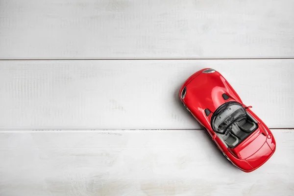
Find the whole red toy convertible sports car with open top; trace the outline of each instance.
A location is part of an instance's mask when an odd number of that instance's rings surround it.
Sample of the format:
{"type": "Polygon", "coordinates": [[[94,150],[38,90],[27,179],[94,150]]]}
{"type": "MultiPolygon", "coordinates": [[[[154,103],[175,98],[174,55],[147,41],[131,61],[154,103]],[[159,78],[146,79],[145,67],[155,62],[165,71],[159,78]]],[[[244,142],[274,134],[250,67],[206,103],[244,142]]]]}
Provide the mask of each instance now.
{"type": "Polygon", "coordinates": [[[223,155],[237,168],[252,172],[276,149],[270,129],[217,71],[206,68],[191,75],[179,97],[223,155]]]}

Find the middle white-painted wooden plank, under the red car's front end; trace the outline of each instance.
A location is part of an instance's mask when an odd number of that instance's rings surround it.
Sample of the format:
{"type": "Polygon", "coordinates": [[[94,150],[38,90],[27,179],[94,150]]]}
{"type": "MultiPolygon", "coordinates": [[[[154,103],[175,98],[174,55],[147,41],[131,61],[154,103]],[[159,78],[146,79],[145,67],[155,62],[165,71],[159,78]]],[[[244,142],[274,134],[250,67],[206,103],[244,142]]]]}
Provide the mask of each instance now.
{"type": "Polygon", "coordinates": [[[200,128],[178,90],[211,67],[270,128],[294,127],[294,59],[0,61],[0,129],[200,128]]]}

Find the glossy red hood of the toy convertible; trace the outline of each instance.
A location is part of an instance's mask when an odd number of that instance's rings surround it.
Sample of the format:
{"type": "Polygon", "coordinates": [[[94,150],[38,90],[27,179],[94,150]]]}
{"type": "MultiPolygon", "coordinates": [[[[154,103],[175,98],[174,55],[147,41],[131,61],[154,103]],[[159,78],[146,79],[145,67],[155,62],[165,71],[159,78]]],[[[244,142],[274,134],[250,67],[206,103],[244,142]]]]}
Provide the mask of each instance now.
{"type": "Polygon", "coordinates": [[[219,72],[200,73],[187,85],[185,102],[193,103],[189,105],[193,105],[195,110],[207,108],[214,112],[227,101],[242,103],[238,94],[219,72]],[[223,94],[229,99],[225,100],[223,94]]]}

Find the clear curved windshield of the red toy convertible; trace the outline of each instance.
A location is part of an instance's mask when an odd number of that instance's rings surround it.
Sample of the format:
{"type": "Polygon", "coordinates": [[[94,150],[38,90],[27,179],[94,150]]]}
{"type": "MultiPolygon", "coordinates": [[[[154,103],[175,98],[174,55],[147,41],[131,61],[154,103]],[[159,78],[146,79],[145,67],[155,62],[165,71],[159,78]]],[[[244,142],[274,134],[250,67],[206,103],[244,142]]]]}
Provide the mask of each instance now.
{"type": "Polygon", "coordinates": [[[216,110],[212,120],[213,129],[217,133],[224,134],[230,124],[245,115],[245,109],[239,103],[227,102],[216,110]]]}

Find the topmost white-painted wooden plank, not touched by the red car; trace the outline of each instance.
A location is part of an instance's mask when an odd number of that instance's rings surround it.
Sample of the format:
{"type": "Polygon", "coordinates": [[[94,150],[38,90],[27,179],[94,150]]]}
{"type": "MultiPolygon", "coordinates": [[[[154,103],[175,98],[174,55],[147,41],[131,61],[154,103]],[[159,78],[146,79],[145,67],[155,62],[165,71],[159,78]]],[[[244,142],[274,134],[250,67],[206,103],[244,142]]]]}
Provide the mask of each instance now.
{"type": "Polygon", "coordinates": [[[293,0],[1,0],[0,59],[294,57],[293,0]]]}

